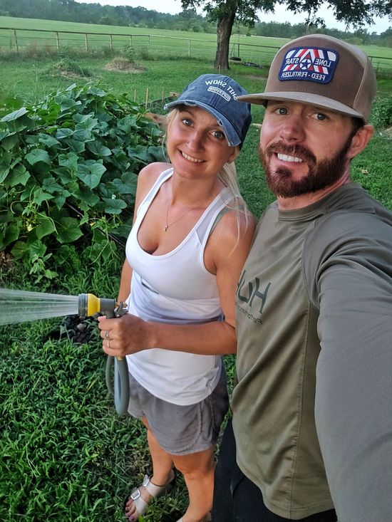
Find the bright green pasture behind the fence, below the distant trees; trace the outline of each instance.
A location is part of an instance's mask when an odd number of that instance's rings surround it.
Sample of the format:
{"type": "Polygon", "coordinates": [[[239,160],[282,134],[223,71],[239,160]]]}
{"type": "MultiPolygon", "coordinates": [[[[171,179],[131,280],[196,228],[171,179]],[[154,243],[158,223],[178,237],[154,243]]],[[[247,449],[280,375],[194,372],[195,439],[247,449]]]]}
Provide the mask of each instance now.
{"type": "MultiPolygon", "coordinates": [[[[76,24],[73,22],[0,16],[0,49],[3,52],[9,52],[10,50],[16,52],[16,38],[14,31],[12,31],[13,29],[17,29],[16,36],[21,52],[24,50],[28,54],[33,53],[37,47],[45,48],[50,53],[56,53],[57,46],[60,49],[73,47],[80,50],[85,50],[86,45],[90,50],[97,48],[122,50],[126,46],[133,46],[138,51],[153,53],[155,56],[172,54],[213,59],[216,48],[216,35],[210,33],[76,24]],[[31,29],[34,31],[31,32],[31,29]],[[41,31],[51,32],[44,33],[41,31]],[[80,34],[67,33],[66,31],[76,31],[80,34]],[[86,33],[88,37],[86,37],[86,33]],[[105,36],[102,33],[105,33],[105,36]],[[113,35],[113,37],[108,36],[109,34],[113,35]]],[[[282,46],[282,43],[285,41],[287,40],[284,38],[233,34],[230,41],[230,54],[242,58],[243,61],[267,65],[272,60],[275,50],[282,46]]],[[[361,47],[369,56],[374,57],[372,58],[373,65],[376,68],[392,70],[391,48],[380,46],[361,47]]]]}

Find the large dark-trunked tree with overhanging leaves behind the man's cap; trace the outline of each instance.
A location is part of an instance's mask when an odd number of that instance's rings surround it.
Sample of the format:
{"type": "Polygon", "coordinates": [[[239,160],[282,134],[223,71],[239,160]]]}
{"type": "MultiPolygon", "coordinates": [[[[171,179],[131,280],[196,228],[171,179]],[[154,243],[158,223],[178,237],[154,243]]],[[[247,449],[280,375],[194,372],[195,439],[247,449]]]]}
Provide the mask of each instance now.
{"type": "MultiPolygon", "coordinates": [[[[203,7],[211,21],[217,22],[217,52],[214,66],[229,69],[229,43],[234,21],[253,27],[259,20],[258,11],[274,11],[276,3],[286,4],[293,13],[304,13],[306,26],[323,26],[324,21],[316,14],[324,0],[181,0],[182,9],[203,7]]],[[[390,0],[327,0],[337,21],[345,21],[347,26],[361,28],[371,24],[374,16],[388,16],[392,19],[390,0]]]]}

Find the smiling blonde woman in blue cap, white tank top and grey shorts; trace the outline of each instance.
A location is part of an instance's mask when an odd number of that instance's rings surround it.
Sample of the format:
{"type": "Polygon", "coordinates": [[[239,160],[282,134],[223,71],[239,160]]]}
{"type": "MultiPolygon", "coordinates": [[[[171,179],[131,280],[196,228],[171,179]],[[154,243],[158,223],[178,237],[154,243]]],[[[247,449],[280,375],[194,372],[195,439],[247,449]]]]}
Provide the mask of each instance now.
{"type": "Polygon", "coordinates": [[[189,494],[179,522],[209,519],[228,407],[221,355],[236,351],[234,293],[254,231],[233,163],[251,120],[235,99],[244,93],[232,78],[207,74],[165,106],[173,108],[170,163],[138,177],[118,296],[129,313],[99,318],[105,353],[127,355],[128,412],[145,424],[153,461],[126,503],[130,522],[169,489],[173,467],[189,494]]]}

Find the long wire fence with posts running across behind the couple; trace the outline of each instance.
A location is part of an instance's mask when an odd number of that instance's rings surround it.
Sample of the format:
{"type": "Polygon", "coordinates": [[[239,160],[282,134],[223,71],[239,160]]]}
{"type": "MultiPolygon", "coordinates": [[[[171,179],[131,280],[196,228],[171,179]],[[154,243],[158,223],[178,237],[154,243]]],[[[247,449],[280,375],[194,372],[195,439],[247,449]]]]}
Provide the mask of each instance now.
{"type": "MultiPolygon", "coordinates": [[[[126,33],[83,33],[76,31],[51,31],[43,29],[19,29],[0,27],[0,51],[16,55],[31,55],[41,51],[60,54],[73,51],[135,52],[138,56],[179,56],[214,60],[216,41],[197,38],[180,38],[151,34],[126,33]]],[[[264,66],[271,63],[279,46],[262,46],[252,43],[230,43],[232,61],[242,61],[249,66],[264,66]]],[[[376,72],[392,72],[392,58],[371,56],[376,72]]]]}

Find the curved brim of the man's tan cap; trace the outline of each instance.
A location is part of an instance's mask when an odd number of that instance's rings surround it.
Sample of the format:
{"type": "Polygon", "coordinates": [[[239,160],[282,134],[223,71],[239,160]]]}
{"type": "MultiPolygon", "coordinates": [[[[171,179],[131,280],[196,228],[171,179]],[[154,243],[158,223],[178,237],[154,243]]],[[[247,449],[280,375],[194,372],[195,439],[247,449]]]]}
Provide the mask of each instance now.
{"type": "Polygon", "coordinates": [[[237,96],[237,101],[239,102],[256,103],[257,105],[266,105],[268,100],[287,100],[292,102],[306,103],[322,109],[333,110],[336,113],[354,116],[354,118],[361,118],[361,120],[365,121],[361,113],[349,107],[348,105],[344,105],[344,103],[339,103],[336,100],[331,100],[331,98],[325,98],[324,96],[317,94],[282,91],[237,96]]]}

